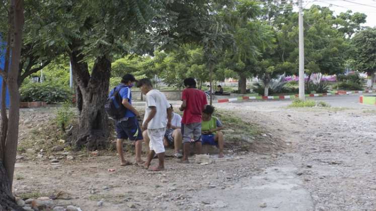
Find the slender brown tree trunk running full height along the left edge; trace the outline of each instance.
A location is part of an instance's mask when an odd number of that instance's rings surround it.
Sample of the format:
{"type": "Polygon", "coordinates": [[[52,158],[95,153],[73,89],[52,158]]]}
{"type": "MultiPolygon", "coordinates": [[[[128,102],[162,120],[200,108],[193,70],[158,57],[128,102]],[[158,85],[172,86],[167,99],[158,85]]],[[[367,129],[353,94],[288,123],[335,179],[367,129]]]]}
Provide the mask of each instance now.
{"type": "MultiPolygon", "coordinates": [[[[23,210],[12,195],[13,175],[16,163],[18,130],[20,119],[20,92],[18,87],[19,64],[22,46],[22,31],[24,27],[24,1],[12,0],[8,13],[9,37],[7,40],[6,68],[4,82],[8,85],[10,95],[10,109],[8,127],[2,126],[2,135],[6,137],[0,147],[0,210],[23,210]],[[10,67],[8,66],[10,62],[10,67]],[[7,69],[10,68],[8,71],[7,69]],[[6,130],[6,131],[5,131],[6,130]]],[[[2,88],[5,88],[3,86],[2,88]]],[[[4,90],[4,89],[3,89],[4,90]]],[[[4,96],[4,91],[2,94],[4,96]]],[[[6,116],[3,111],[2,115],[6,116]]],[[[2,122],[3,124],[5,122],[2,122]]]]}

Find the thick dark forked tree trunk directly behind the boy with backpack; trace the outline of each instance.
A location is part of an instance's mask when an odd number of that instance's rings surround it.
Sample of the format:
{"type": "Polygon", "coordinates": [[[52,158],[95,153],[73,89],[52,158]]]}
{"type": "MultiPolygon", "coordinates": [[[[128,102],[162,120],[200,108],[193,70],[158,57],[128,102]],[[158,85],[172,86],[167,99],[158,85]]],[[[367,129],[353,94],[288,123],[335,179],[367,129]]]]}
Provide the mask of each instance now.
{"type": "Polygon", "coordinates": [[[78,86],[79,109],[79,134],[73,145],[77,149],[84,146],[90,150],[104,149],[110,134],[104,103],[108,96],[111,60],[106,55],[97,58],[90,75],[88,65],[82,59],[80,52],[72,52],[70,60],[72,74],[78,86]]]}

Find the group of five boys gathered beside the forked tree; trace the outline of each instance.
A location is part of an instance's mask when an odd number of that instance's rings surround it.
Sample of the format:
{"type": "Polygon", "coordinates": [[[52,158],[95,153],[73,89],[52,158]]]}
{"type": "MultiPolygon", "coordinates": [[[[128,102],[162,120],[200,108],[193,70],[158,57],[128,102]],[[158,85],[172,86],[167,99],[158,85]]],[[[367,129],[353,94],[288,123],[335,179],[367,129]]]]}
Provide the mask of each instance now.
{"type": "Polygon", "coordinates": [[[183,118],[173,113],[172,104],[166,96],[153,88],[151,80],[144,78],[137,81],[137,87],[145,94],[145,115],[142,126],[139,127],[138,111],[132,106],[131,87],[136,79],[131,74],[122,77],[121,84],[115,87],[110,96],[118,91],[122,105],[127,109],[124,118],[116,120],[116,148],[120,156],[120,165],[130,165],[124,159],[123,140],[135,141],[135,164],[149,169],[152,159],[157,156],[159,165],[149,170],[164,170],[165,147],[174,145],[174,156],[181,158],[180,163],[189,163],[190,144],[193,142],[196,152],[201,153],[202,144],[217,145],[219,157],[223,157],[223,134],[221,122],[212,117],[214,108],[207,104],[205,93],[196,89],[194,78],[184,80],[185,89],[182,92],[182,104],[179,108],[183,118]],[[141,159],[142,141],[149,146],[147,160],[141,159]],[[180,153],[181,144],[183,154],[180,153]]]}

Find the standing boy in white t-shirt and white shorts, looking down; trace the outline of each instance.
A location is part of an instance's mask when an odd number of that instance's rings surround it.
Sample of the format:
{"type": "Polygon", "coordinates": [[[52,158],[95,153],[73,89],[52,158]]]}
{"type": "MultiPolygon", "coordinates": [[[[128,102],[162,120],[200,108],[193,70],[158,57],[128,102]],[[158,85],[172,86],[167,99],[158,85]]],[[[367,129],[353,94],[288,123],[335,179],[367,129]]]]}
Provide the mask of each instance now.
{"type": "Polygon", "coordinates": [[[146,131],[150,139],[149,153],[145,168],[148,169],[155,154],[158,156],[159,165],[153,167],[153,171],[161,171],[165,169],[165,147],[163,145],[163,137],[165,135],[166,127],[171,128],[172,109],[167,101],[166,96],[153,89],[152,82],[143,78],[137,82],[137,87],[146,95],[145,116],[141,130],[146,131]]]}

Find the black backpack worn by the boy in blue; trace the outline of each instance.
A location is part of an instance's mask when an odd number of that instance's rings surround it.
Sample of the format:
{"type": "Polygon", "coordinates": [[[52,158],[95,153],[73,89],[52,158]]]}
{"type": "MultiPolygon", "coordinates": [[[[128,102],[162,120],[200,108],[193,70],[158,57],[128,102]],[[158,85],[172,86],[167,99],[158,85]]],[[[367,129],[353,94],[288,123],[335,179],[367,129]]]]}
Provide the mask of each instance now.
{"type": "Polygon", "coordinates": [[[119,92],[122,88],[126,86],[119,85],[113,89],[113,93],[109,96],[105,103],[105,111],[110,119],[120,120],[121,118],[125,117],[125,113],[127,109],[122,104],[122,97],[120,96],[119,92]],[[117,90],[116,88],[119,87],[117,90]]]}

